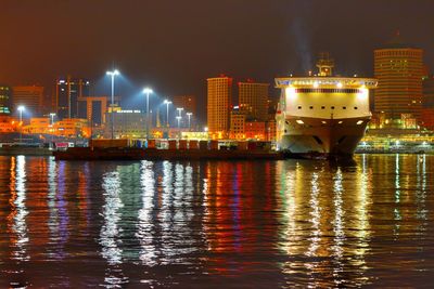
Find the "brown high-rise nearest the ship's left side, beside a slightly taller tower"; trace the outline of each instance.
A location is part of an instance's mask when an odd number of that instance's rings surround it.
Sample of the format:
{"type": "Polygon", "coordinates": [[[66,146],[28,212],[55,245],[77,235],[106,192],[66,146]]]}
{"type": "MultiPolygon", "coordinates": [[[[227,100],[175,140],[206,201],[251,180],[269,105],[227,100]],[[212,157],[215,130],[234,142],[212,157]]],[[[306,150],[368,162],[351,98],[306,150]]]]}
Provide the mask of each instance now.
{"type": "Polygon", "coordinates": [[[240,113],[245,114],[247,118],[267,120],[269,86],[269,83],[257,83],[250,79],[246,82],[239,82],[240,113]]]}

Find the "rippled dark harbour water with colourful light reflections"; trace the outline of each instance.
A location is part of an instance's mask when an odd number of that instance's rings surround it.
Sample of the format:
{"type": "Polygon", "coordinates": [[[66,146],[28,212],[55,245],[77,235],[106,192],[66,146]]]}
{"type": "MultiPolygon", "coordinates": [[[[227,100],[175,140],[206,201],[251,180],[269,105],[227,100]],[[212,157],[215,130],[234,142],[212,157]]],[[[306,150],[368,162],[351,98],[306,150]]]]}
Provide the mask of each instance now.
{"type": "Polygon", "coordinates": [[[0,288],[425,286],[434,156],[0,157],[0,288]]]}

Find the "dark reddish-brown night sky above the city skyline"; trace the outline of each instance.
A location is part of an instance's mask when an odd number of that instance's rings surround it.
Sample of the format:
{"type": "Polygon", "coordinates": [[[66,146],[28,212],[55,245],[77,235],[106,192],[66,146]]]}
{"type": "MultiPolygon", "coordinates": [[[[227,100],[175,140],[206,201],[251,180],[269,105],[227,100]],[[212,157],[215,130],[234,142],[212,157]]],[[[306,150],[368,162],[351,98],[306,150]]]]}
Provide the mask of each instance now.
{"type": "Polygon", "coordinates": [[[434,69],[433,0],[2,0],[0,11],[0,82],[48,91],[66,74],[107,87],[115,63],[126,97],[150,84],[204,100],[207,77],[271,82],[321,51],[337,73],[371,76],[372,50],[398,29],[434,69]]]}

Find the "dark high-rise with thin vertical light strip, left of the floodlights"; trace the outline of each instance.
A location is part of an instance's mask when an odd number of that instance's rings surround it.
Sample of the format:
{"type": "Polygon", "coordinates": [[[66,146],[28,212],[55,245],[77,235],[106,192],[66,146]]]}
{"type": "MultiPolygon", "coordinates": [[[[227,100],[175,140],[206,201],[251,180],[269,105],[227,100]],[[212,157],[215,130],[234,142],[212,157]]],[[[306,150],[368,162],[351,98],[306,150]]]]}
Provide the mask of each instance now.
{"type": "Polygon", "coordinates": [[[56,80],[55,108],[58,117],[78,118],[78,97],[89,96],[90,82],[86,79],[74,79],[69,76],[56,80]]]}

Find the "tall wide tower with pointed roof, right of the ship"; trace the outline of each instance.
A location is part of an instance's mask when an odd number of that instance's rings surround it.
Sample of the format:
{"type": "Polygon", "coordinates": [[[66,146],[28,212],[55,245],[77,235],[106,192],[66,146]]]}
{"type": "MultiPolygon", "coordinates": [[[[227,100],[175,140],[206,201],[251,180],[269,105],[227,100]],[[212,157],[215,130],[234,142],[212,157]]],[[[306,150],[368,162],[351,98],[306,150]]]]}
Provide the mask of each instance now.
{"type": "Polygon", "coordinates": [[[423,51],[395,39],[374,51],[375,113],[398,119],[411,114],[420,120],[422,108],[423,51]]]}

